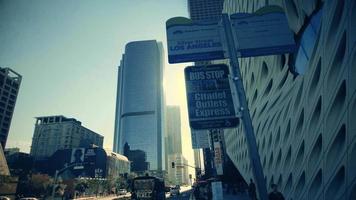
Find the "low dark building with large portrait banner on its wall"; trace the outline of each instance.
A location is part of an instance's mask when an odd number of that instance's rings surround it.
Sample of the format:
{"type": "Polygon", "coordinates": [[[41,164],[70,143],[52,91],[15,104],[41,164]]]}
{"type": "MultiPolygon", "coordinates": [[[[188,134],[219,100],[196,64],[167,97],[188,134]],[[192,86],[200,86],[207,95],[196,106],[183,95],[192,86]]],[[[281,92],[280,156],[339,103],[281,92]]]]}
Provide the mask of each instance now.
{"type": "Polygon", "coordinates": [[[54,175],[56,170],[63,171],[59,174],[63,180],[77,177],[115,179],[130,173],[130,162],[123,155],[99,147],[60,149],[48,158],[46,172],[54,175]]]}

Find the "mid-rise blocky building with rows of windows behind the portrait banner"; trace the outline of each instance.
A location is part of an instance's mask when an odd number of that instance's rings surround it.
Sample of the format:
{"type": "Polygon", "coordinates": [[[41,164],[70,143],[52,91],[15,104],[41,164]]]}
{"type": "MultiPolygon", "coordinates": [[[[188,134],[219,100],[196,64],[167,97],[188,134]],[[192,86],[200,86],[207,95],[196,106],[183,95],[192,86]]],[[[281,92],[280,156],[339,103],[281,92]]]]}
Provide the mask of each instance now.
{"type": "Polygon", "coordinates": [[[37,117],[32,138],[31,156],[44,159],[59,149],[102,147],[104,137],[95,133],[74,118],[62,115],[37,117]]]}

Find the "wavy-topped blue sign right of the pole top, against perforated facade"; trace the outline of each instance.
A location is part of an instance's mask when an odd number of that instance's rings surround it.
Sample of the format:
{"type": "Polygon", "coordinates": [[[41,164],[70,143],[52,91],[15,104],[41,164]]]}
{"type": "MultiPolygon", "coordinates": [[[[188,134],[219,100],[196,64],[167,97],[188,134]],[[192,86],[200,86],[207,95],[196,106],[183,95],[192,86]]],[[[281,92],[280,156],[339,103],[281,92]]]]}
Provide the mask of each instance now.
{"type": "Polygon", "coordinates": [[[293,53],[297,50],[287,17],[279,6],[230,16],[238,57],[293,53]]]}

